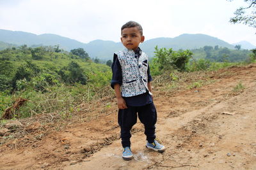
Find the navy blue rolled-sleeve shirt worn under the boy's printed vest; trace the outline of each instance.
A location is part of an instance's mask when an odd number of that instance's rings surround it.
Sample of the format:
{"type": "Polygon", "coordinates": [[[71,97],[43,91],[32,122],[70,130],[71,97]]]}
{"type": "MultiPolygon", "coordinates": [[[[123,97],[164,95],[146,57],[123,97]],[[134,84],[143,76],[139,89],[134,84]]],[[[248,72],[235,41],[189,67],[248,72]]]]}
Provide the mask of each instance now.
{"type": "MultiPolygon", "coordinates": [[[[141,55],[141,49],[140,47],[137,48],[135,51],[135,56],[134,57],[140,57],[141,55]]],[[[118,83],[120,86],[122,85],[123,81],[123,76],[122,76],[122,69],[121,69],[121,64],[118,60],[117,55],[114,53],[113,57],[113,64],[111,66],[112,69],[112,80],[111,80],[111,87],[114,89],[114,85],[118,83]]],[[[152,81],[152,76],[150,75],[150,69],[148,65],[148,82],[152,81]]],[[[132,97],[123,97],[125,100],[125,103],[127,106],[145,106],[146,104],[150,104],[153,102],[152,96],[147,92],[144,94],[140,94],[138,96],[132,96],[132,97]]]]}

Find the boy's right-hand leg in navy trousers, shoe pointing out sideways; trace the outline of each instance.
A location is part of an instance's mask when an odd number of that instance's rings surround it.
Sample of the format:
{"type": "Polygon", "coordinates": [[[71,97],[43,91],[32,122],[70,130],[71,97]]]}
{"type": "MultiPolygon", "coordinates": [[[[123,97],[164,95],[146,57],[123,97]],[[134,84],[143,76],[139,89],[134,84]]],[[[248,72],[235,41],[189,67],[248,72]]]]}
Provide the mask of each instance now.
{"type": "Polygon", "coordinates": [[[157,112],[154,103],[141,106],[138,111],[138,117],[140,118],[140,122],[144,124],[147,141],[149,143],[154,143],[154,140],[156,139],[155,124],[157,121],[157,112]]]}

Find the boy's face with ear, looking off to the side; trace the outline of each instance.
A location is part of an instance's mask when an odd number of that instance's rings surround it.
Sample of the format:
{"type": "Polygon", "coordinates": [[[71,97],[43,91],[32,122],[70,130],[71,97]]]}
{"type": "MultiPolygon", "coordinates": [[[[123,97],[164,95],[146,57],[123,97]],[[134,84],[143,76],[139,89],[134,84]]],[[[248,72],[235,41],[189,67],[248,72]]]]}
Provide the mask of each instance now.
{"type": "Polygon", "coordinates": [[[136,50],[140,43],[143,43],[145,37],[141,36],[138,27],[125,28],[122,30],[121,41],[129,50],[136,50]]]}

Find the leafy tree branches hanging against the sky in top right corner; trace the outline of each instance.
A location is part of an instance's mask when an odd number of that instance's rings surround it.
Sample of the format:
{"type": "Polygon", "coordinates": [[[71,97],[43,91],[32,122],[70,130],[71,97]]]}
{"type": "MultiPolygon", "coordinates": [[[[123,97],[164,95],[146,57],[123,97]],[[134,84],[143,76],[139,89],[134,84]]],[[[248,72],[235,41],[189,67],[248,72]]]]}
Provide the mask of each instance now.
{"type": "MultiPolygon", "coordinates": [[[[231,0],[232,1],[232,0],[231,0]]],[[[242,23],[249,27],[256,28],[256,1],[255,0],[244,0],[248,6],[240,7],[234,12],[234,17],[230,18],[231,23],[242,23]]]]}

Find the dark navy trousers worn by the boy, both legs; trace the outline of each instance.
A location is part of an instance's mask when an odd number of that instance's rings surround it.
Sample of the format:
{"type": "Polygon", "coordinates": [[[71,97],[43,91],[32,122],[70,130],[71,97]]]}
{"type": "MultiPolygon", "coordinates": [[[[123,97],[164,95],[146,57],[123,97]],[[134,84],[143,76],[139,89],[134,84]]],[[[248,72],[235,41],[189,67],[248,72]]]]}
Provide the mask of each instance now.
{"type": "Polygon", "coordinates": [[[144,133],[147,136],[147,141],[153,143],[154,139],[156,139],[155,124],[157,113],[154,103],[145,106],[127,106],[127,109],[118,111],[118,124],[121,128],[122,146],[124,148],[126,146],[131,146],[131,129],[132,126],[136,124],[137,117],[139,117],[140,122],[144,124],[144,133]]]}

